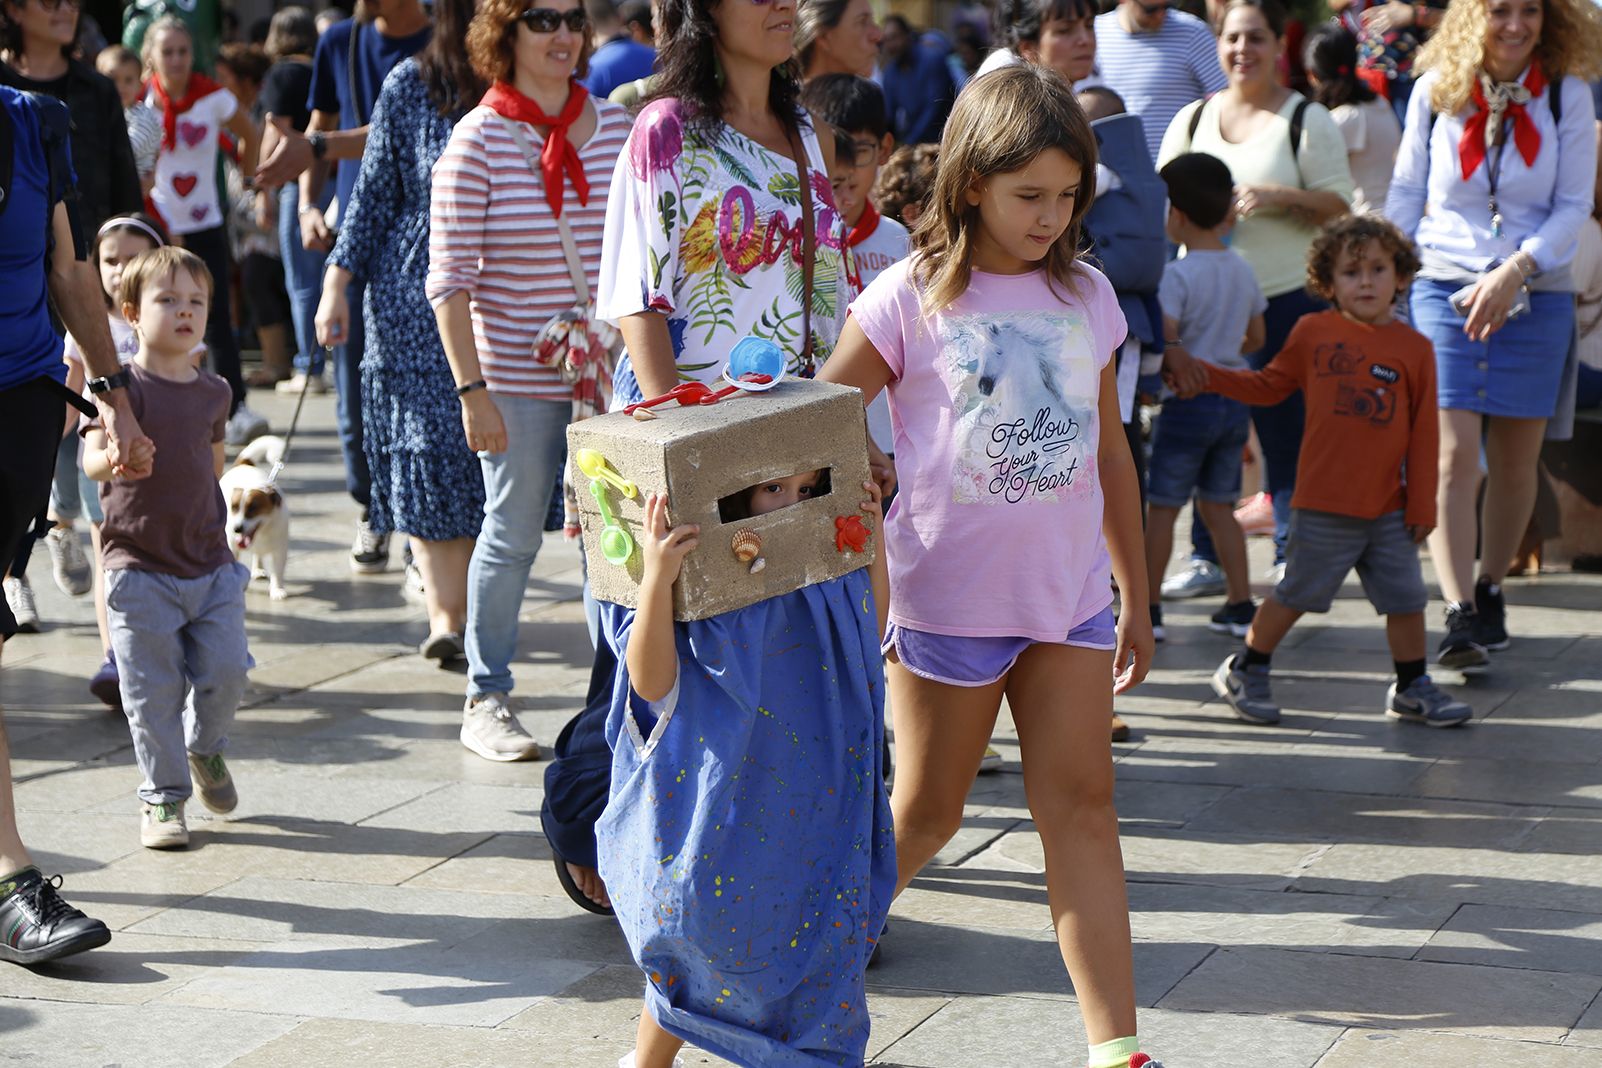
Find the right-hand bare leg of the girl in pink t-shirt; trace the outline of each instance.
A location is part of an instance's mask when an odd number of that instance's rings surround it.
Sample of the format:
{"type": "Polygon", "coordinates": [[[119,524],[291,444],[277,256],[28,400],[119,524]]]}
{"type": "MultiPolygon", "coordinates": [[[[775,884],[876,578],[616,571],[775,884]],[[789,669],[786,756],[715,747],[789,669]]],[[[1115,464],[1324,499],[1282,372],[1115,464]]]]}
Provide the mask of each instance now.
{"type": "MultiPolygon", "coordinates": [[[[1112,652],[1030,645],[1006,679],[1046,898],[1093,1046],[1133,1036],[1129,900],[1113,810],[1112,652]]],[[[897,833],[897,844],[899,844],[897,833]]]]}

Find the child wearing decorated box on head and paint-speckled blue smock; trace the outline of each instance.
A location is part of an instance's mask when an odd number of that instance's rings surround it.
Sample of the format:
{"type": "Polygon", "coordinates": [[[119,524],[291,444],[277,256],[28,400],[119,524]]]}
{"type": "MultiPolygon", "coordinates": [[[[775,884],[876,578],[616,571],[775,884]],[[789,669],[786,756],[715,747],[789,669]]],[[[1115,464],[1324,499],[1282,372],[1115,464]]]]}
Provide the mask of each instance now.
{"type": "MultiPolygon", "coordinates": [[[[782,368],[751,339],[731,363],[751,346],[782,368]]],[[[860,394],[774,378],[569,428],[620,661],[599,869],[649,977],[625,1065],[682,1041],[740,1065],[867,1052],[863,969],[896,889],[879,490],[860,394]]]]}

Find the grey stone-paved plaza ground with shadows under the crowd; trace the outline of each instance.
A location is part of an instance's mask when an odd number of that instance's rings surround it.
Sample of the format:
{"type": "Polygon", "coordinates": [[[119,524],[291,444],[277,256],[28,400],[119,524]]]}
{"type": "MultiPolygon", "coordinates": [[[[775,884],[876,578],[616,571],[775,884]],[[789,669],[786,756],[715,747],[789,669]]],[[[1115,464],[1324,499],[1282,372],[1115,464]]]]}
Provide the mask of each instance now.
{"type": "MultiPolygon", "coordinates": [[[[284,399],[253,404],[287,423],[284,399]]],[[[139,847],[127,724],[85,689],[90,602],[35,554],[48,631],[8,642],[0,676],[22,834],[114,937],[0,966],[0,1062],[543,1068],[631,1047],[641,977],[557,887],[545,764],[463,749],[463,677],[415,655],[399,570],[348,570],[332,428],[309,399],[284,477],[293,596],[250,592],[239,810],[195,805],[187,852],[139,847]]],[[[549,745],[590,647],[577,551],[554,535],[535,570],[516,674],[549,745]]],[[[1450,732],[1381,716],[1391,661],[1355,583],[1275,656],[1278,729],[1213,697],[1214,605],[1169,607],[1117,746],[1141,1031],[1169,1068],[1602,1065],[1602,581],[1515,580],[1509,600],[1491,674],[1440,679],[1477,713],[1450,732]]],[[[873,1063],[1083,1063],[1009,727],[996,745],[1006,769],[868,974],[873,1063]]]]}

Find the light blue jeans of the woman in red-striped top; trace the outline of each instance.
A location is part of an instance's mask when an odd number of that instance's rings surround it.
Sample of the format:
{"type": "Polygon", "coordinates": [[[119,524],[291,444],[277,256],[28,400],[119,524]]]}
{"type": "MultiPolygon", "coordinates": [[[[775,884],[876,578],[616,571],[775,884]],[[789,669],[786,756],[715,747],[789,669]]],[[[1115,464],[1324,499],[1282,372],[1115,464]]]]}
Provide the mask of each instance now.
{"type": "Polygon", "coordinates": [[[511,693],[517,613],[545,540],[551,485],[561,476],[572,404],[493,394],[506,452],[481,455],[484,528],[468,565],[468,697],[511,693]]]}

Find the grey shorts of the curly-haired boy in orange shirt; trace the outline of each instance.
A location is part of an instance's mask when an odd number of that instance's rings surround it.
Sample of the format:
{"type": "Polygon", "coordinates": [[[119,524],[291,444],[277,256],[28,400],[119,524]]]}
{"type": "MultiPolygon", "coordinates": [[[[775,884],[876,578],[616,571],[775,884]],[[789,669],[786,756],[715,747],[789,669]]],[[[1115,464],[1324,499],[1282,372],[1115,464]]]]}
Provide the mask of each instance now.
{"type": "Polygon", "coordinates": [[[1298,612],[1328,612],[1354,567],[1379,615],[1423,612],[1429,604],[1418,546],[1400,511],[1378,519],[1355,519],[1291,509],[1285,578],[1274,597],[1298,612]]]}

